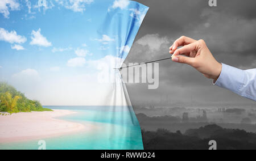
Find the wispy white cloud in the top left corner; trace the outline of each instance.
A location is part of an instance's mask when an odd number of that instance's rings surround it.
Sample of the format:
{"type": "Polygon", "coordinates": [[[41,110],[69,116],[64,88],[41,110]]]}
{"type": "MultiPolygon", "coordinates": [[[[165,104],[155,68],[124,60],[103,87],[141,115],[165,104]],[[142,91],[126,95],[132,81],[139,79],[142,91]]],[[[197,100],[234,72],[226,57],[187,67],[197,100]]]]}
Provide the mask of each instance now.
{"type": "Polygon", "coordinates": [[[5,16],[5,18],[9,18],[10,11],[9,10],[19,10],[19,3],[16,0],[1,0],[0,1],[0,13],[5,16]]]}

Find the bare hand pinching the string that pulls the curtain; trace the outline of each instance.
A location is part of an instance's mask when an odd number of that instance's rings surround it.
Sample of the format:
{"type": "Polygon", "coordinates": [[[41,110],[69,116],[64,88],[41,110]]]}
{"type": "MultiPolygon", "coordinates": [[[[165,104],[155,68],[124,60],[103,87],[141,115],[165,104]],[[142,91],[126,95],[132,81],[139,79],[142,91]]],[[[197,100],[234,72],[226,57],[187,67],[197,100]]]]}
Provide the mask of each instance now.
{"type": "Polygon", "coordinates": [[[222,65],[215,60],[204,40],[181,36],[170,47],[170,54],[172,61],[191,65],[214,82],[220,77],[222,65]],[[179,46],[183,47],[177,49],[179,46]]]}

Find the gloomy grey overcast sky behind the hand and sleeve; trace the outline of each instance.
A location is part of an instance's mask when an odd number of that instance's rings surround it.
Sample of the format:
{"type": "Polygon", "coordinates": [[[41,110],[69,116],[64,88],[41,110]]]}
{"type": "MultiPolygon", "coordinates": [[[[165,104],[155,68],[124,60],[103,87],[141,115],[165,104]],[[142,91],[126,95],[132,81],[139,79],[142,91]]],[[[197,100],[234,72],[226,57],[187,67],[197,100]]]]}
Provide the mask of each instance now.
{"type": "MultiPolygon", "coordinates": [[[[150,7],[125,63],[168,57],[168,48],[180,36],[204,39],[220,62],[241,69],[256,67],[256,1],[217,0],[139,0],[150,7]]],[[[127,84],[131,102],[159,101],[168,95],[171,103],[223,105],[252,104],[232,92],[212,86],[212,82],[187,65],[163,61],[160,86],[147,90],[147,84],[127,84]]],[[[255,106],[256,108],[256,106],[255,106]]]]}

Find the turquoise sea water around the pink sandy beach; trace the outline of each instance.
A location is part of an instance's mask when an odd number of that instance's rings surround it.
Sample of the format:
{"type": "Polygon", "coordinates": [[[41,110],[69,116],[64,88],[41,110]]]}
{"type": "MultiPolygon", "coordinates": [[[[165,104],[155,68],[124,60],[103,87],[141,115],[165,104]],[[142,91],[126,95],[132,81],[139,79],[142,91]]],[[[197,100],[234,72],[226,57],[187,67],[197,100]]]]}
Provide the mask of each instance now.
{"type": "MultiPolygon", "coordinates": [[[[67,134],[52,138],[40,138],[46,141],[47,150],[141,150],[143,149],[141,128],[131,107],[50,107],[77,112],[59,119],[80,124],[91,124],[93,130],[67,134]]],[[[0,144],[0,149],[39,148],[39,139],[0,144]]]]}

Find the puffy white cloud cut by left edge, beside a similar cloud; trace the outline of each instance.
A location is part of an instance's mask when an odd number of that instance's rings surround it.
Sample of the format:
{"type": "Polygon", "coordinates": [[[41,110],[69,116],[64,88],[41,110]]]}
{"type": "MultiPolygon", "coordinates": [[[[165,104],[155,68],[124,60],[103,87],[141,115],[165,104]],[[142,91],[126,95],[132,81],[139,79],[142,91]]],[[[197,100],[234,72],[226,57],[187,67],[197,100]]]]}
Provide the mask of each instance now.
{"type": "Polygon", "coordinates": [[[4,28],[0,28],[0,40],[1,41],[6,41],[8,43],[18,43],[22,44],[27,41],[27,38],[24,36],[17,35],[16,31],[7,31],[4,28]]]}

